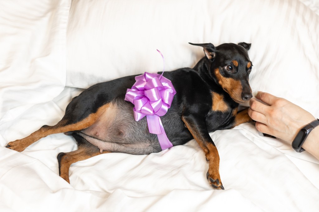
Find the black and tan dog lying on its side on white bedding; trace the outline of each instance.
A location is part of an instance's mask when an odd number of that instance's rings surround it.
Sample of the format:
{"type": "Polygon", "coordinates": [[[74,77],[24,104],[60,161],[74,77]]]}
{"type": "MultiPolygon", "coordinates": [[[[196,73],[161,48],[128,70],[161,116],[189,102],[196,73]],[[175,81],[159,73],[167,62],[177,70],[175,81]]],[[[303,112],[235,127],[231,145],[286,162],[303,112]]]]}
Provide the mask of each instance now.
{"type": "MultiPolygon", "coordinates": [[[[161,121],[174,146],[196,139],[209,161],[207,179],[213,188],[224,189],[219,176],[219,154],[208,133],[251,120],[247,110],[238,112],[239,103],[252,97],[248,82],[252,68],[247,53],[250,44],[192,45],[204,47],[206,56],[194,68],[164,73],[177,93],[161,121]]],[[[135,121],[133,104],[124,101],[126,89],[135,83],[134,77],[93,85],[69,103],[59,123],[45,125],[6,147],[21,152],[50,134],[72,135],[78,150],[61,152],[57,156],[59,174],[69,183],[70,165],[79,160],[109,152],[150,154],[161,151],[157,136],[148,131],[146,118],[135,121]]]]}

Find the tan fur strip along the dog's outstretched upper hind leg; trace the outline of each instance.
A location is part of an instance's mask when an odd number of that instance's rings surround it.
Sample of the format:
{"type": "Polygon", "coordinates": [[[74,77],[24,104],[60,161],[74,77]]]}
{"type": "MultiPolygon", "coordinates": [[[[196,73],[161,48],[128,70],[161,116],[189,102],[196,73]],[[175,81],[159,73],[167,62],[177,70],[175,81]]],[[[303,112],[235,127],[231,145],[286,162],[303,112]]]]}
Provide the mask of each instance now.
{"type": "Polygon", "coordinates": [[[69,124],[65,125],[67,120],[61,120],[58,124],[54,126],[48,126],[48,127],[41,127],[39,130],[33,132],[31,135],[29,135],[26,138],[18,139],[15,141],[11,141],[8,143],[8,148],[22,152],[26,149],[29,145],[33,144],[37,140],[44,138],[48,135],[55,134],[55,133],[61,133],[61,132],[69,132],[69,131],[78,131],[83,130],[85,128],[88,128],[94,122],[100,117],[100,115],[108,109],[108,107],[111,107],[112,104],[105,104],[102,107],[100,107],[96,113],[90,114],[88,117],[83,119],[82,121],[79,121],[75,124],[69,124]]]}

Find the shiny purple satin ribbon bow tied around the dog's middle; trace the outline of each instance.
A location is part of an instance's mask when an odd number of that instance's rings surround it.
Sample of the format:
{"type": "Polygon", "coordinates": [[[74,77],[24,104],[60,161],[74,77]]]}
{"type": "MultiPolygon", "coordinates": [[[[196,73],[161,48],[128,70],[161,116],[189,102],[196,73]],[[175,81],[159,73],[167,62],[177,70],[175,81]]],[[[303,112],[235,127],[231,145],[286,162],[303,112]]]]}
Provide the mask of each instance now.
{"type": "MultiPolygon", "coordinates": [[[[163,58],[162,53],[157,50],[163,58]]],[[[165,69],[165,62],[164,62],[165,69]]],[[[136,82],[126,91],[125,99],[134,104],[134,119],[139,121],[146,116],[148,130],[157,134],[162,150],[173,144],[167,138],[160,116],[164,116],[171,107],[176,91],[170,80],[162,74],[145,72],[135,77],[136,82]]]]}

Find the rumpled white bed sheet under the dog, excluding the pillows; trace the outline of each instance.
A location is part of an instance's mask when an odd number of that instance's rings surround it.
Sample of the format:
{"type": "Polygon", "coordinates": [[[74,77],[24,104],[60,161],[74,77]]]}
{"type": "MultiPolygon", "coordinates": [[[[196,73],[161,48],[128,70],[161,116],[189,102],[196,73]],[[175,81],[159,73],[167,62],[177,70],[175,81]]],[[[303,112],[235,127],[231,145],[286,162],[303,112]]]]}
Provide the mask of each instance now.
{"type": "Polygon", "coordinates": [[[4,148],[44,124],[55,124],[77,88],[34,105],[0,130],[0,208],[8,211],[317,211],[319,164],[307,152],[260,136],[250,123],[211,133],[225,190],[213,190],[208,163],[195,140],[150,155],[109,153],[58,176],[56,156],[77,148],[64,134],[50,135],[19,153],[4,148]],[[27,123],[26,123],[27,122],[27,123]],[[16,134],[19,132],[19,134],[16,134]]]}

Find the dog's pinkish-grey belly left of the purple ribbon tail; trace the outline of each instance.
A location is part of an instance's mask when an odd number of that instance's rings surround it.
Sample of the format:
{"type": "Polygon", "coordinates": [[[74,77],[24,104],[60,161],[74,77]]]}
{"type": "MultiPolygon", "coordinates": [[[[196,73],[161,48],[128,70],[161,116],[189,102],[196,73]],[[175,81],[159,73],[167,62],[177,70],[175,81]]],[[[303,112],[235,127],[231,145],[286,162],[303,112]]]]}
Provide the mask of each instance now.
{"type": "Polygon", "coordinates": [[[100,151],[129,154],[159,152],[161,148],[156,135],[146,129],[144,119],[134,120],[132,107],[119,107],[111,103],[93,125],[79,134],[100,151]]]}

